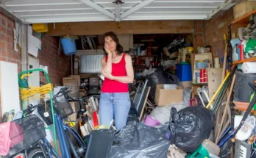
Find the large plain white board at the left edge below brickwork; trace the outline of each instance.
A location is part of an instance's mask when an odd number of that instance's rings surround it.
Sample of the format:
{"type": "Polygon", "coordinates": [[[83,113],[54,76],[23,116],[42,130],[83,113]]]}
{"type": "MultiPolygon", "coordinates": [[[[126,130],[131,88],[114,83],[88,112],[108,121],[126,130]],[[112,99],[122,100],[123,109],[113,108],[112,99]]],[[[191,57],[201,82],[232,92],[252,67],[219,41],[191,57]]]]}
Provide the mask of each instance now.
{"type": "Polygon", "coordinates": [[[0,103],[1,116],[4,112],[21,109],[18,87],[18,65],[0,61],[0,103]]]}

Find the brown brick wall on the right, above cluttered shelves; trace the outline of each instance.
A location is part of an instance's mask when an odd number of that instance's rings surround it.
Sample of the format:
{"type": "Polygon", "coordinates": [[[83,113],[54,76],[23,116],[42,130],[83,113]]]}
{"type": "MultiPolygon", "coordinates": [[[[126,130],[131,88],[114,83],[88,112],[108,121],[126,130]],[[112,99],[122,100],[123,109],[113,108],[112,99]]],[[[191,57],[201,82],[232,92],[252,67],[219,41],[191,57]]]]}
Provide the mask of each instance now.
{"type": "Polygon", "coordinates": [[[229,10],[218,12],[208,21],[205,21],[205,46],[210,45],[214,57],[224,56],[224,38],[228,35],[228,24],[234,20],[232,7],[229,10]]]}

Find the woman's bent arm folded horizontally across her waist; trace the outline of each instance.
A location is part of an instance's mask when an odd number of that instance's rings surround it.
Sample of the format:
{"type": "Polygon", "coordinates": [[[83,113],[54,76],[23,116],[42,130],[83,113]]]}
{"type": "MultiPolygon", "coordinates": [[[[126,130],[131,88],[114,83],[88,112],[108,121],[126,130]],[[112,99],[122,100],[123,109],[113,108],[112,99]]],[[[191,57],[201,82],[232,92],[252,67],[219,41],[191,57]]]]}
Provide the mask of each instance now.
{"type": "Polygon", "coordinates": [[[128,54],[125,54],[125,62],[126,62],[125,68],[127,70],[127,76],[112,76],[112,79],[118,82],[132,83],[134,80],[132,57],[128,54]]]}

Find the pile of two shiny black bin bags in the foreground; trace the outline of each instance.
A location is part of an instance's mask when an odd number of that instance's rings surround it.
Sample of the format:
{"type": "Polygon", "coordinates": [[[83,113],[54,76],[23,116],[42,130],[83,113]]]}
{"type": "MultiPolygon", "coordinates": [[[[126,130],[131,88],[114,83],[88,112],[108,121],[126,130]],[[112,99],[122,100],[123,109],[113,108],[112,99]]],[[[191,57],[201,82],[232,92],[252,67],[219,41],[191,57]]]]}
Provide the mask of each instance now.
{"type": "Polygon", "coordinates": [[[210,137],[214,114],[205,107],[171,109],[168,126],[154,128],[132,121],[115,134],[109,158],[166,158],[168,147],[177,147],[190,153],[196,151],[203,140],[210,137]],[[171,134],[168,140],[166,134],[171,134]]]}

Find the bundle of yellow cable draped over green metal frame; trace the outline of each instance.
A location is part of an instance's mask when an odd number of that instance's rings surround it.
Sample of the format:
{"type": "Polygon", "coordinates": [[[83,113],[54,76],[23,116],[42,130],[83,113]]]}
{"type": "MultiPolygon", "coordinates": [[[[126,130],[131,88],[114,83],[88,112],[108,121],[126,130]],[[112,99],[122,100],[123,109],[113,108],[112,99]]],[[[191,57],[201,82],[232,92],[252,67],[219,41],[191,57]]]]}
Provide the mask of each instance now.
{"type": "Polygon", "coordinates": [[[32,87],[29,88],[21,88],[21,99],[22,100],[29,100],[33,98],[46,98],[46,95],[51,92],[53,89],[53,85],[46,84],[41,87],[32,87]]]}

